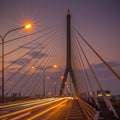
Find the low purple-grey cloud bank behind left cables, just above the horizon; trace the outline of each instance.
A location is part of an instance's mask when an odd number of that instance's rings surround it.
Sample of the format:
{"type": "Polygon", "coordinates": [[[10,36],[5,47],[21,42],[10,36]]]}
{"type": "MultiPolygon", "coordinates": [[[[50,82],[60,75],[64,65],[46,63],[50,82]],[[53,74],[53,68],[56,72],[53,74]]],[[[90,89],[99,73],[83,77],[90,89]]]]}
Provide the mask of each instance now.
{"type": "MultiPolygon", "coordinates": [[[[51,66],[48,66],[46,68],[51,68],[51,66]]],[[[41,66],[39,69],[42,69],[43,70],[43,66],[41,66]]],[[[7,72],[7,76],[11,76],[13,73],[14,73],[14,70],[16,70],[16,68],[11,68],[10,71],[6,71],[7,72]]],[[[52,70],[52,69],[51,69],[52,70]]],[[[35,82],[36,84],[36,88],[39,87],[40,83],[43,81],[43,73],[39,73],[38,71],[36,71],[33,75],[33,72],[34,70],[32,70],[30,73],[25,73],[25,72],[18,72],[12,79],[10,79],[6,84],[5,84],[5,91],[8,92],[18,81],[19,84],[15,87],[15,89],[13,89],[11,92],[19,92],[20,88],[22,87],[22,85],[26,82],[26,81],[29,81],[26,86],[24,87],[24,90],[22,91],[24,93],[24,91],[26,91],[26,89],[29,87],[30,83],[33,83],[33,81],[35,82]],[[24,76],[25,75],[25,76],[24,76]],[[33,76],[32,76],[33,75],[33,76]],[[22,76],[24,76],[22,78],[22,76]],[[36,76],[38,76],[36,78],[36,76]],[[42,76],[42,77],[40,77],[42,76]],[[22,78],[22,79],[21,79],[22,78]],[[36,78],[36,79],[34,79],[36,78]]],[[[54,72],[51,72],[50,70],[48,71],[48,73],[46,72],[45,73],[45,76],[49,75],[50,76],[50,79],[47,80],[46,78],[46,92],[51,90],[51,91],[54,91],[54,84],[53,82],[56,80],[58,84],[61,83],[61,80],[60,80],[60,76],[62,75],[61,72],[63,73],[63,69],[59,69],[59,70],[55,70],[54,72]],[[52,86],[52,89],[51,87],[52,86]],[[49,89],[50,88],[50,89],[49,89]]],[[[7,79],[7,78],[6,78],[7,79]]],[[[32,86],[32,89],[35,87],[35,84],[33,84],[32,86]]],[[[34,88],[35,89],[35,88],[34,88]]],[[[31,92],[30,90],[30,92],[31,92]]],[[[37,92],[36,92],[37,93],[37,92]]],[[[42,91],[40,92],[40,94],[42,94],[42,91]]],[[[9,94],[10,95],[10,94],[9,94]]]]}

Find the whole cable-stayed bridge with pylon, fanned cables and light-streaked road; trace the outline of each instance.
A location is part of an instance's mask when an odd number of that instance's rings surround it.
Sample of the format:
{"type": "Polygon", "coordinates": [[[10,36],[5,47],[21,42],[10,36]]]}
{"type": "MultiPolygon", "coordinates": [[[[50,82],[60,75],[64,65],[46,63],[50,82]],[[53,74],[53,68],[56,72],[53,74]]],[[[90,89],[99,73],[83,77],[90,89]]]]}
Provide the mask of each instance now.
{"type": "MultiPolygon", "coordinates": [[[[71,25],[70,10],[66,16],[65,66],[55,64],[57,57],[60,58],[56,41],[64,39],[61,33],[65,35],[62,25],[7,38],[22,26],[1,36],[1,120],[120,119],[120,100],[107,96],[85,49],[117,80],[119,74],[71,25]],[[6,48],[12,44],[16,46],[6,48]],[[101,97],[96,95],[93,83],[101,97]]],[[[64,58],[60,60],[64,62],[64,58]]]]}

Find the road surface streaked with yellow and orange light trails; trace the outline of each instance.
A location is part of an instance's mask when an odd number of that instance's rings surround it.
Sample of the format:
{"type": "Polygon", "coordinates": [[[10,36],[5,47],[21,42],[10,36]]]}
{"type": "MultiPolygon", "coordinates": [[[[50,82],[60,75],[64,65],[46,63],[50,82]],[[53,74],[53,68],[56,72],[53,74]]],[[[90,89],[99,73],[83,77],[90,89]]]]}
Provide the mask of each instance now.
{"type": "Polygon", "coordinates": [[[27,100],[1,105],[0,120],[72,120],[76,111],[85,118],[72,97],[27,100]]]}

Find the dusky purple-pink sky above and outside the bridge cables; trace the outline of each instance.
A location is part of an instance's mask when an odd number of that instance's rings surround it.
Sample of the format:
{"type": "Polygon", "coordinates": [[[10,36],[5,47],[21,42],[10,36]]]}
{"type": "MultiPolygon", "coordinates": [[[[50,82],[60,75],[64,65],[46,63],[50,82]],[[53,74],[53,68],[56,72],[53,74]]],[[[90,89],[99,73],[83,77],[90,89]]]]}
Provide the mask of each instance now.
{"type": "MultiPolygon", "coordinates": [[[[72,25],[120,75],[119,0],[0,0],[0,35],[3,36],[8,30],[21,26],[26,21],[33,22],[32,32],[62,24],[62,34],[65,35],[68,9],[71,10],[72,25]]],[[[7,39],[12,39],[18,34],[22,35],[24,31],[11,33],[7,39]]],[[[15,43],[6,46],[6,51],[15,46],[15,43]]],[[[56,63],[61,67],[65,66],[65,47],[66,38],[57,40],[56,63]]],[[[93,67],[103,72],[101,62],[96,57],[92,57],[87,50],[86,54],[93,67]]],[[[12,59],[13,57],[9,57],[7,61],[12,59]]],[[[110,76],[108,72],[106,74],[107,77],[110,76]]],[[[102,81],[102,79],[101,83],[103,82],[106,88],[105,84],[109,83],[109,80],[102,81]]],[[[112,78],[107,88],[113,94],[119,94],[119,85],[120,81],[112,78]]]]}

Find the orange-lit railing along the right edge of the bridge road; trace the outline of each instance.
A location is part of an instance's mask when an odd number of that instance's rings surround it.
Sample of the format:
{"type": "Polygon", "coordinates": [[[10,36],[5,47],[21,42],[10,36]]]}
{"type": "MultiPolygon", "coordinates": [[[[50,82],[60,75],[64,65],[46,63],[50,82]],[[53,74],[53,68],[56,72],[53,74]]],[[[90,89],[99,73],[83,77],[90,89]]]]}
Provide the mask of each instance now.
{"type": "Polygon", "coordinates": [[[80,98],[76,98],[88,120],[98,120],[99,112],[80,98]]]}

